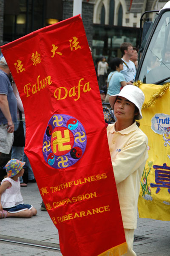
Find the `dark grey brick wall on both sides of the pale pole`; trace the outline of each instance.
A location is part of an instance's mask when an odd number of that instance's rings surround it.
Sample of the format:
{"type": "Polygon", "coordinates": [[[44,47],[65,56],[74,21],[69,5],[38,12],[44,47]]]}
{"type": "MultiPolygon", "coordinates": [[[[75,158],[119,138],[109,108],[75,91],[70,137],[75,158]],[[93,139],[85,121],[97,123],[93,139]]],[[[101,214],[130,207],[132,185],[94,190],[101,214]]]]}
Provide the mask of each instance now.
{"type": "MultiPolygon", "coordinates": [[[[93,40],[93,3],[82,2],[82,21],[85,27],[88,44],[92,46],[93,40]]],[[[73,16],[73,0],[63,1],[63,20],[73,16]]]]}

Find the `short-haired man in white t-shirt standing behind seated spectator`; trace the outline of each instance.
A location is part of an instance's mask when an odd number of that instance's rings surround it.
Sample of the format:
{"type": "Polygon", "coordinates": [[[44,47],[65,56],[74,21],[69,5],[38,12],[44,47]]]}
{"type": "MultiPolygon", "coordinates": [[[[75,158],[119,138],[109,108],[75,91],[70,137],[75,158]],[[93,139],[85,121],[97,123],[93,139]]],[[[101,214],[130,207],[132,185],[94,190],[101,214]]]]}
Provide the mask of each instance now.
{"type": "Polygon", "coordinates": [[[127,82],[133,83],[136,75],[135,64],[130,60],[130,57],[133,55],[133,46],[131,43],[122,43],[120,50],[123,54],[123,70],[120,72],[124,75],[127,82]]]}

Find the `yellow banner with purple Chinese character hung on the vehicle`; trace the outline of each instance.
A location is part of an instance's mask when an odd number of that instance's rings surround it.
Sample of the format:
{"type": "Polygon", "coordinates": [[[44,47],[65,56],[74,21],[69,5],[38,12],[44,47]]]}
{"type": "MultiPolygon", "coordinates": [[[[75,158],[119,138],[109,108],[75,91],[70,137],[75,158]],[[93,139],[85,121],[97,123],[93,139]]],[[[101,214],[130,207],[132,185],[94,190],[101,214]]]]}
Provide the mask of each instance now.
{"type": "Polygon", "coordinates": [[[170,220],[170,88],[142,84],[145,95],[140,128],[148,137],[141,179],[139,217],[170,220]]]}

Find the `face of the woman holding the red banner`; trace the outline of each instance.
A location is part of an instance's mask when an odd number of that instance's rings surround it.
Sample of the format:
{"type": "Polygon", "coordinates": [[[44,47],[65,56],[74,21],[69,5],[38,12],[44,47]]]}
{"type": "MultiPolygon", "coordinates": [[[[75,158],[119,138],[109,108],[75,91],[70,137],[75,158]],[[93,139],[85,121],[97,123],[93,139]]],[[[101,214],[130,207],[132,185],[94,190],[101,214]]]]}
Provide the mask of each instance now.
{"type": "Polygon", "coordinates": [[[135,104],[122,96],[118,96],[114,104],[114,114],[117,119],[130,121],[135,117],[135,104]]]}

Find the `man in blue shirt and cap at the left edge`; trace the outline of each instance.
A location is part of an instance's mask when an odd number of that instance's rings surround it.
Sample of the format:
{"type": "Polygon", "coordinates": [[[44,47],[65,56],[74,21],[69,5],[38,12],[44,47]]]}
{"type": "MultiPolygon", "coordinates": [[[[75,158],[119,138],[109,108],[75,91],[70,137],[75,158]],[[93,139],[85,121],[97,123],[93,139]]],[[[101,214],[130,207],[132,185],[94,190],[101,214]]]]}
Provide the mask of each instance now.
{"type": "Polygon", "coordinates": [[[17,122],[17,100],[10,82],[10,69],[4,57],[0,60],[0,154],[9,154],[17,122]]]}

